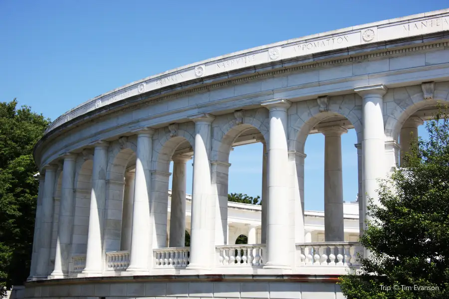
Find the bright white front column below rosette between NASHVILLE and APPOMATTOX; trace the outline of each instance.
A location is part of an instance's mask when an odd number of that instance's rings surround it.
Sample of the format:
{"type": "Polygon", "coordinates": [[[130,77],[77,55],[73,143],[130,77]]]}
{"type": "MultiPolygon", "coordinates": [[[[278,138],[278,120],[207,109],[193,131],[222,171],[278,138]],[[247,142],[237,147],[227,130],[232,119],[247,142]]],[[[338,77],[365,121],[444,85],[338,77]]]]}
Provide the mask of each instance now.
{"type": "Polygon", "coordinates": [[[267,259],[264,269],[291,269],[289,244],[289,183],[287,109],[291,103],[275,99],[261,103],[269,112],[267,259]]]}

